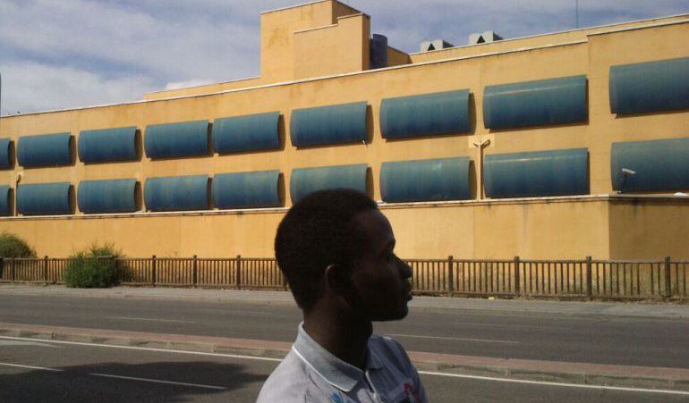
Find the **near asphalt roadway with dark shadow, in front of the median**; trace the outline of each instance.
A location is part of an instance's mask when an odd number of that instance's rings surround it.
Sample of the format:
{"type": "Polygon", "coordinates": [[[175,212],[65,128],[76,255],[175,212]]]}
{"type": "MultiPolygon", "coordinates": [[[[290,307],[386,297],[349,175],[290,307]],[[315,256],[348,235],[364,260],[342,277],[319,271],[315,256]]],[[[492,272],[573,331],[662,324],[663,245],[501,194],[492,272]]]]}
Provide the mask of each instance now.
{"type": "MultiPolygon", "coordinates": [[[[0,401],[256,399],[276,361],[0,338],[0,401]]],[[[687,394],[422,374],[432,402],[679,402],[687,394]]],[[[684,392],[686,393],[686,392],[684,392]]]]}

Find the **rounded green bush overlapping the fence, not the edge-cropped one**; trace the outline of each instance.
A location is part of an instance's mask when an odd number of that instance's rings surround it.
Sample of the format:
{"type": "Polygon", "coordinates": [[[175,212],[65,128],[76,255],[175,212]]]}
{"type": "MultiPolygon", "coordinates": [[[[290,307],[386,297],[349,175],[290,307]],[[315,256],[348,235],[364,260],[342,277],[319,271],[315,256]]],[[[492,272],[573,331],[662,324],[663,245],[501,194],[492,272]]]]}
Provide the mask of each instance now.
{"type": "Polygon", "coordinates": [[[112,287],[117,284],[115,258],[120,255],[113,245],[91,245],[70,256],[64,271],[64,283],[67,287],[79,289],[112,287]]]}

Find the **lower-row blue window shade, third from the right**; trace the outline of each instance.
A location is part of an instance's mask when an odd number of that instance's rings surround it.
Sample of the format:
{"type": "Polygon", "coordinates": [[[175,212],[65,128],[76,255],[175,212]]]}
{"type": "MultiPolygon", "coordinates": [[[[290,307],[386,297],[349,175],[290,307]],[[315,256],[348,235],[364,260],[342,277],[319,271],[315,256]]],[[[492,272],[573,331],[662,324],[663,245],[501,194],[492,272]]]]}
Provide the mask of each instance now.
{"type": "Polygon", "coordinates": [[[469,157],[384,163],[380,192],[388,203],[470,198],[470,163],[469,157]]]}

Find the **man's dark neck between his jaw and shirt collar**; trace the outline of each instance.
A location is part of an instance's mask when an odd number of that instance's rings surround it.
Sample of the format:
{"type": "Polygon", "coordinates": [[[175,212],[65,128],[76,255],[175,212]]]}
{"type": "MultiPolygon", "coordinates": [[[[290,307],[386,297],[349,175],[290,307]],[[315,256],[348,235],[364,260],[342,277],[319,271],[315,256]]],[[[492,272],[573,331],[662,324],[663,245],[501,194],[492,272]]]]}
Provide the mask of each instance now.
{"type": "Polygon", "coordinates": [[[304,330],[311,339],[345,363],[364,369],[368,341],[373,326],[370,321],[318,312],[304,313],[304,330]]]}

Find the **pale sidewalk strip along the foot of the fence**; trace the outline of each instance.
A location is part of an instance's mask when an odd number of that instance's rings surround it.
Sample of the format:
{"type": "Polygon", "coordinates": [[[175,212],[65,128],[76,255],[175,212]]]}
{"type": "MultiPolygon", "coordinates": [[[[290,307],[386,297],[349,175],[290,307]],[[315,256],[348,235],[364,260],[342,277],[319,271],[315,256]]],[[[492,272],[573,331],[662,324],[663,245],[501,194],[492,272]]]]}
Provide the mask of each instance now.
{"type": "MultiPolygon", "coordinates": [[[[246,302],[259,304],[294,305],[286,291],[202,290],[187,288],[114,287],[112,289],[69,289],[64,286],[34,286],[0,284],[2,295],[36,295],[83,298],[166,299],[204,302],[246,302]]],[[[414,297],[413,309],[462,309],[473,311],[546,313],[557,315],[615,315],[665,319],[689,319],[689,304],[642,302],[582,302],[523,299],[483,299],[414,297]]]]}

